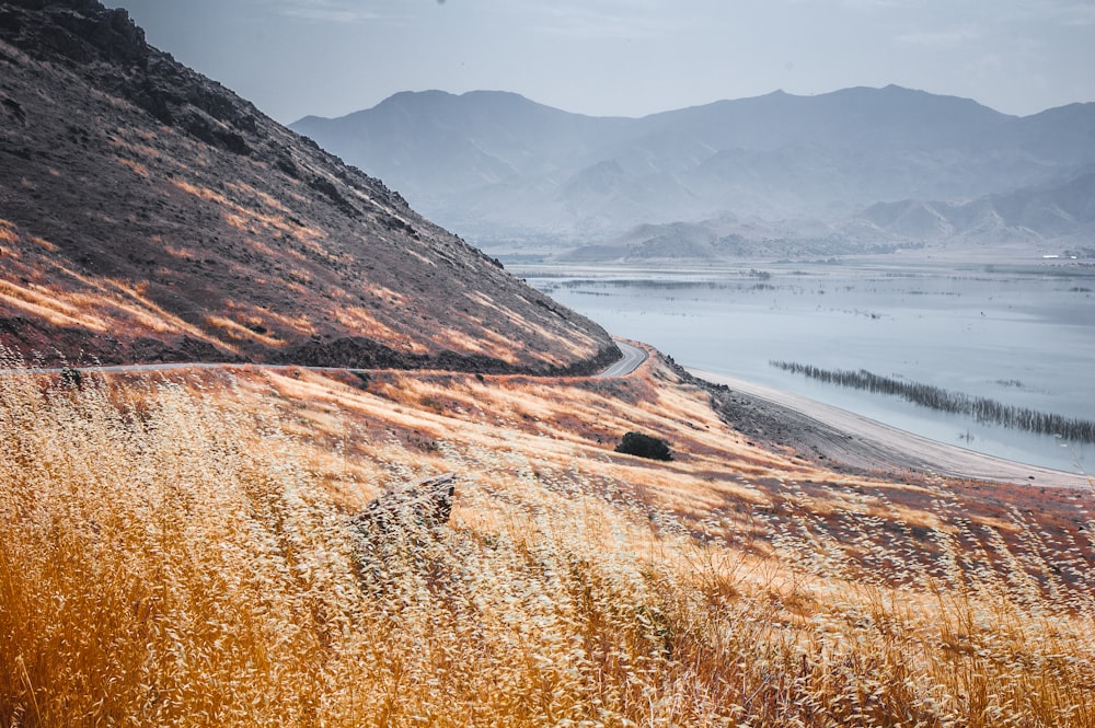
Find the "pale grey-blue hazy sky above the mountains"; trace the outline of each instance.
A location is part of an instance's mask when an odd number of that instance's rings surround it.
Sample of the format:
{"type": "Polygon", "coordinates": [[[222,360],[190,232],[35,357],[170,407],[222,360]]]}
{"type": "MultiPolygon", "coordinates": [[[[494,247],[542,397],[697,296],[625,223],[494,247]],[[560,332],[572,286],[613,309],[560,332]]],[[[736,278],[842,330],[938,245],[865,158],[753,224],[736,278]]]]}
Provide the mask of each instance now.
{"type": "Polygon", "coordinates": [[[105,0],[285,123],[399,91],[642,116],[889,83],[1027,115],[1095,101],[1095,0],[105,0]]]}

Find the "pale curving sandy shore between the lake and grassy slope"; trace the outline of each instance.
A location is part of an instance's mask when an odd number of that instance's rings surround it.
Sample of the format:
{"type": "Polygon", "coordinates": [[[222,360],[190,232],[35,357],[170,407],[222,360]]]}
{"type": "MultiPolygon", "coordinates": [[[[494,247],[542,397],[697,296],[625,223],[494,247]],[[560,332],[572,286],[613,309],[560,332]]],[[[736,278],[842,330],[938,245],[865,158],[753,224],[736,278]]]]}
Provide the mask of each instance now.
{"type": "Polygon", "coordinates": [[[789,447],[817,460],[869,471],[919,471],[998,483],[1095,487],[1095,479],[1083,475],[936,442],[839,407],[735,377],[699,369],[688,371],[693,377],[730,389],[726,395],[727,414],[742,424],[745,434],[789,447]]]}

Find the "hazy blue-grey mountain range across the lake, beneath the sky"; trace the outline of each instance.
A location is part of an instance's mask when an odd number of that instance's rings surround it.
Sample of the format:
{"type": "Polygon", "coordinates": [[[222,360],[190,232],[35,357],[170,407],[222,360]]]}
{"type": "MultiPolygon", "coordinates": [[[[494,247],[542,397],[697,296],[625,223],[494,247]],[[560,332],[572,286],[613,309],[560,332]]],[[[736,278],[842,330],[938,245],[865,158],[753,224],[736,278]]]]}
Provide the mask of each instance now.
{"type": "Polygon", "coordinates": [[[1095,170],[1095,103],[1016,117],[890,85],[598,118],[512,93],[427,91],[290,126],[488,250],[727,219],[756,241],[789,228],[786,239],[802,242],[820,226],[852,251],[968,238],[948,223],[925,240],[888,224],[878,204],[1025,205],[998,210],[982,238],[1074,242],[1093,229],[1090,210],[1062,215],[1053,193],[1068,197],[1095,170]]]}

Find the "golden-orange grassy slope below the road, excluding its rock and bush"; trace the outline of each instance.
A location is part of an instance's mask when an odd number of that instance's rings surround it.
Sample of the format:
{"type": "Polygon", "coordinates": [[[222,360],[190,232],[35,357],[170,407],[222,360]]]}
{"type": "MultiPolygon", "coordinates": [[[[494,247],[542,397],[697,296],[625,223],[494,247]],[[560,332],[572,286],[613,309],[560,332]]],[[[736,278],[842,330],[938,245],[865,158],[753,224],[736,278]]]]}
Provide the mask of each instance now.
{"type": "Polygon", "coordinates": [[[819,470],[654,361],[47,380],[0,378],[2,726],[1095,726],[1086,492],[819,470]],[[449,525],[348,528],[443,472],[449,525]]]}

